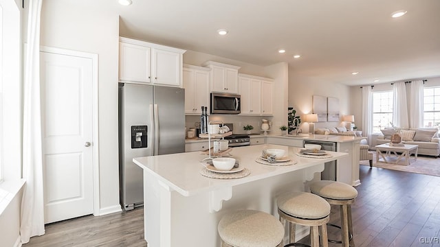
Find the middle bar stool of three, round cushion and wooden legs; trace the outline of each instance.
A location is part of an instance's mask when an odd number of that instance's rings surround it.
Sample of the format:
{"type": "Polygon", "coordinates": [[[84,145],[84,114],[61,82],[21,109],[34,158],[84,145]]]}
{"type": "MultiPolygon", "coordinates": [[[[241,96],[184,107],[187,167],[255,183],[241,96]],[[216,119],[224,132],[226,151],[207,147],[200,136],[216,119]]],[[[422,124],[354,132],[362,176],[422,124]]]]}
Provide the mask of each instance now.
{"type": "Polygon", "coordinates": [[[327,247],[327,222],[329,222],[330,204],[311,193],[289,192],[278,197],[278,214],[283,225],[289,224],[289,243],[285,246],[305,246],[295,244],[295,224],[310,226],[311,247],[319,247],[319,229],[322,246],[327,247]]]}

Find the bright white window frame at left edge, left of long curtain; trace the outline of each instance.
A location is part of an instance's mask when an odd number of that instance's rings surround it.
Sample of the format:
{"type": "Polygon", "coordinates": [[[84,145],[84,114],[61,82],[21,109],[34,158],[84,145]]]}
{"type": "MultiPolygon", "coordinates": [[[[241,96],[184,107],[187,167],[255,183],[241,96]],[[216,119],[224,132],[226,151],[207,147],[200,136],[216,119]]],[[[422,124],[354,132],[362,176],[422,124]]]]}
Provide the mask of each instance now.
{"type": "Polygon", "coordinates": [[[21,6],[0,0],[0,169],[4,182],[21,178],[22,128],[22,36],[21,6]]]}

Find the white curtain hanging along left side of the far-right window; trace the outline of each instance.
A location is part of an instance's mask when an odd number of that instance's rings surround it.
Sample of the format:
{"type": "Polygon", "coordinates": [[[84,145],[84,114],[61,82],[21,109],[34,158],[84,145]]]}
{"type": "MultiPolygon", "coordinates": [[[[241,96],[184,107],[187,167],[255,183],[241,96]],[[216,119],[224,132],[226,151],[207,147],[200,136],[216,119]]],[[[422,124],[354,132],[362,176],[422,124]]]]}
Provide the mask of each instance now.
{"type": "Polygon", "coordinates": [[[410,83],[410,127],[423,127],[423,80],[410,83]]]}

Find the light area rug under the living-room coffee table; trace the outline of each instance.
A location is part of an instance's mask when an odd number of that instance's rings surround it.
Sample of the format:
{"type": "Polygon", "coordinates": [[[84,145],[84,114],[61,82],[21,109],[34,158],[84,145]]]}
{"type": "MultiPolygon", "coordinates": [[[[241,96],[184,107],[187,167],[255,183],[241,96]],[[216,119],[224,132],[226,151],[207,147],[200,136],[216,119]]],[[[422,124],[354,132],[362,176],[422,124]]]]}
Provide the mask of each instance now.
{"type": "MultiPolygon", "coordinates": [[[[433,156],[418,156],[417,161],[415,161],[414,156],[410,156],[410,165],[389,164],[381,162],[381,160],[376,163],[376,152],[373,152],[373,167],[440,176],[440,158],[434,158],[433,156]]],[[[360,161],[360,165],[369,165],[369,161],[360,161]]]]}

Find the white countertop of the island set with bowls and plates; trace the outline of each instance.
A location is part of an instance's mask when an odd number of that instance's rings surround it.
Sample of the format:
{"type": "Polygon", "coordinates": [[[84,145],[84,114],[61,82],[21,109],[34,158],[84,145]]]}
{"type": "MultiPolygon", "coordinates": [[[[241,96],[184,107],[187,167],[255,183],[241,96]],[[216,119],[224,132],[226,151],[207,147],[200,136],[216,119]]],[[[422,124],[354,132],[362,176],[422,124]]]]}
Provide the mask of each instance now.
{"type": "Polygon", "coordinates": [[[215,179],[202,176],[200,174],[200,169],[202,169],[203,166],[200,161],[208,156],[201,154],[201,152],[145,156],[133,158],[133,162],[144,169],[144,171],[152,174],[157,180],[170,187],[170,189],[179,192],[182,196],[193,196],[206,191],[214,191],[224,187],[241,185],[254,180],[269,178],[271,176],[293,172],[298,169],[320,165],[348,155],[342,152],[327,151],[332,154],[333,157],[302,158],[296,155],[299,150],[300,148],[268,144],[233,148],[230,152],[232,157],[239,160],[240,166],[250,170],[249,176],[235,179],[215,179]],[[255,159],[261,156],[261,151],[264,148],[281,148],[287,150],[290,158],[297,161],[297,163],[295,165],[287,166],[263,165],[256,163],[255,159]]]}

